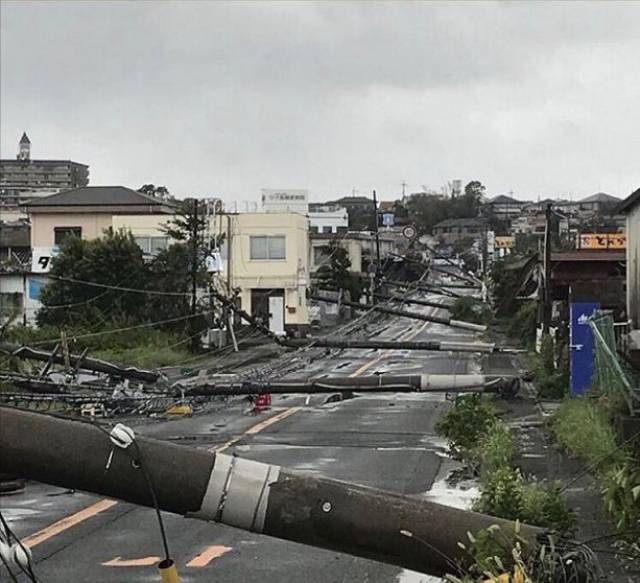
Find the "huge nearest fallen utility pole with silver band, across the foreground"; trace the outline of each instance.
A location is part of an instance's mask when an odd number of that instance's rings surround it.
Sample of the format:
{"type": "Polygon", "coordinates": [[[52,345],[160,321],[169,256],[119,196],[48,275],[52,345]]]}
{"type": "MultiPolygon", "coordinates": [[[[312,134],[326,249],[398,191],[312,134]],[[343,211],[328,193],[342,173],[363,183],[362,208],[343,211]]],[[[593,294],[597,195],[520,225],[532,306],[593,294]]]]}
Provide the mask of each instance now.
{"type": "Polygon", "coordinates": [[[473,562],[458,546],[468,532],[496,524],[511,538],[519,529],[532,553],[546,538],[533,526],[424,498],[137,435],[135,448],[114,448],[107,431],[0,407],[0,472],[148,507],[151,483],[166,512],[435,576],[473,562]]]}

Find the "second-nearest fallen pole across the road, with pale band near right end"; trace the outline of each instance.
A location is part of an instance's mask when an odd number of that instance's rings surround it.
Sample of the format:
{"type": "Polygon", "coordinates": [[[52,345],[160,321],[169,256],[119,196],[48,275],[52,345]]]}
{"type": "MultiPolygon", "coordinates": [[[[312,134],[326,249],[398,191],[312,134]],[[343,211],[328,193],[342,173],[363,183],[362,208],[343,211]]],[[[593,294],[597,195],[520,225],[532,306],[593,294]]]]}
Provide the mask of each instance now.
{"type": "Polygon", "coordinates": [[[222,379],[179,387],[189,396],[219,395],[274,395],[334,393],[336,391],[358,391],[363,393],[513,393],[519,377],[497,375],[373,375],[368,377],[320,377],[314,379],[291,379],[285,381],[239,381],[222,379]]]}

